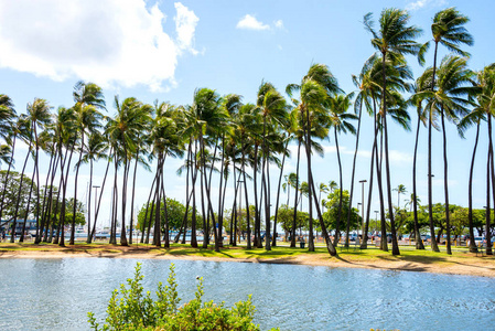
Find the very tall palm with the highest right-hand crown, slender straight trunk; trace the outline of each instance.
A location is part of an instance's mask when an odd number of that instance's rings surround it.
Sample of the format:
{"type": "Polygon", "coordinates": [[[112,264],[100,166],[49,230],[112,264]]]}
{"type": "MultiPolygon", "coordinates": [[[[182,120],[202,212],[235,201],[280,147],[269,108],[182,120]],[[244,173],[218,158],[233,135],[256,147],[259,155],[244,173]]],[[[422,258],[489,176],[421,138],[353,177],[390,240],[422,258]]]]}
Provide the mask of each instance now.
{"type": "MultiPolygon", "coordinates": [[[[431,32],[434,42],[434,55],[433,55],[433,72],[431,77],[431,92],[435,87],[435,74],[437,74],[437,53],[439,43],[444,45],[449,51],[460,54],[462,56],[469,56],[469,53],[460,49],[461,44],[472,45],[474,43],[473,38],[464,28],[470,19],[462,15],[455,8],[448,8],[439,11],[431,24],[431,32]]],[[[428,43],[427,43],[428,45],[428,43]]],[[[430,114],[431,115],[431,114],[430,114]]],[[[434,252],[440,252],[437,241],[434,239],[433,227],[433,195],[432,195],[432,174],[431,174],[431,129],[433,118],[430,116],[428,122],[428,212],[430,221],[430,234],[431,234],[431,248],[434,252]]],[[[445,210],[448,213],[448,210],[445,210]]]]}

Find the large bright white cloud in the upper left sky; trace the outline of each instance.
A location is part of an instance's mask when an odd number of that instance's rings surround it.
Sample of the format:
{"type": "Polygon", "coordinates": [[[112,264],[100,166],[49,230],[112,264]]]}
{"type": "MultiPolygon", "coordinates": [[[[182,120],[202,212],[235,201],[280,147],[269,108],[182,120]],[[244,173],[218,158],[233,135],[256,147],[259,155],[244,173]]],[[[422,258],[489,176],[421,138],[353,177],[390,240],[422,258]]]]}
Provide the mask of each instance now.
{"type": "Polygon", "coordinates": [[[175,10],[173,39],[165,13],[144,0],[1,1],[0,67],[160,90],[174,84],[181,54],[197,54],[198,18],[180,2],[175,10]]]}

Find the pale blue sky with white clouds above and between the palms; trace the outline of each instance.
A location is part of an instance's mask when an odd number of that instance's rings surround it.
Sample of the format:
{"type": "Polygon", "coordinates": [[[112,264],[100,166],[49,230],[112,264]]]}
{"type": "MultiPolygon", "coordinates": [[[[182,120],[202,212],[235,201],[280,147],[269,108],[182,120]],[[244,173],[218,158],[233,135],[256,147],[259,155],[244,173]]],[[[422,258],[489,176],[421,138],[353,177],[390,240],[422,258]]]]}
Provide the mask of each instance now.
{"type": "MultiPolygon", "coordinates": [[[[409,10],[411,23],[423,29],[420,42],[431,39],[431,19],[437,11],[456,7],[471,19],[466,28],[473,34],[475,44],[469,49],[472,54],[470,66],[480,70],[495,62],[495,23],[491,17],[495,6],[488,0],[0,0],[0,93],[13,99],[18,113],[24,113],[26,103],[34,97],[45,98],[54,107],[72,106],[72,90],[78,79],[104,87],[109,115],[115,111],[115,95],[120,98],[133,96],[146,103],[159,99],[185,105],[191,103],[197,87],[214,88],[223,95],[240,94],[248,103],[255,100],[262,79],[273,83],[283,92],[287,84],[300,82],[312,63],[329,65],[341,87],[349,93],[354,90],[351,75],[358,74],[364,61],[374,52],[370,35],[362,24],[363,15],[373,12],[378,19],[380,11],[388,7],[409,10]]],[[[444,54],[441,49],[440,58],[444,54]]],[[[432,58],[430,51],[427,54],[428,65],[432,64],[432,58]]],[[[415,58],[408,60],[418,76],[422,68],[415,58]]],[[[412,119],[411,127],[416,128],[416,119],[412,119]]],[[[365,118],[356,183],[362,179],[368,180],[373,142],[370,128],[372,120],[365,118]]],[[[459,138],[452,124],[446,131],[450,200],[451,203],[466,206],[474,128],[466,134],[466,139],[459,138]]],[[[410,192],[415,132],[406,132],[391,125],[389,135],[392,186],[403,184],[410,192]]],[[[475,207],[484,205],[486,135],[483,127],[474,179],[475,207]]],[[[426,138],[426,130],[422,129],[418,159],[418,195],[422,203],[427,203],[426,138]]],[[[340,138],[345,189],[349,188],[351,182],[354,139],[352,136],[340,138]]],[[[441,143],[441,132],[434,132],[435,202],[443,201],[441,143]]],[[[337,181],[335,141],[332,138],[323,145],[324,158],[316,157],[313,161],[315,180],[325,183],[337,181]]],[[[24,151],[17,153],[18,168],[24,153],[25,147],[24,151]]],[[[294,157],[289,160],[287,172],[295,169],[294,157]]],[[[170,196],[184,201],[185,180],[175,175],[181,162],[168,161],[166,189],[170,196]]],[[[98,164],[97,181],[101,180],[105,166],[98,164]]],[[[41,172],[46,172],[46,168],[47,162],[42,166],[41,172]]],[[[301,171],[305,173],[304,164],[301,171]]],[[[79,183],[86,183],[88,169],[83,168],[80,174],[79,183]]],[[[272,172],[273,179],[275,174],[272,172]]],[[[140,169],[138,178],[137,202],[141,205],[148,196],[152,175],[140,169]]],[[[361,185],[356,184],[355,190],[361,196],[361,185]]],[[[365,190],[367,192],[367,185],[365,190]]],[[[85,192],[86,184],[82,184],[78,195],[85,192]]],[[[108,192],[104,193],[103,221],[109,215],[108,192]]],[[[397,201],[395,194],[394,201],[397,201]]],[[[373,210],[377,209],[375,195],[373,210]]]]}

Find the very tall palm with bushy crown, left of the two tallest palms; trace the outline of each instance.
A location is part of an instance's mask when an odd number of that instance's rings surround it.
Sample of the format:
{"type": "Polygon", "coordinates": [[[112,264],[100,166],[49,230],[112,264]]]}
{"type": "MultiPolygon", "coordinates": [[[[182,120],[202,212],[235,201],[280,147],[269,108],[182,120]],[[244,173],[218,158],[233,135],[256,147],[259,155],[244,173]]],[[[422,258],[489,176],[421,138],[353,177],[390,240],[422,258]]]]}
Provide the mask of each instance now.
{"type": "Polygon", "coordinates": [[[383,126],[385,132],[385,167],[387,178],[387,195],[388,209],[390,211],[390,228],[392,237],[392,255],[399,255],[399,246],[394,222],[394,210],[391,203],[391,184],[390,184],[390,166],[388,156],[388,128],[387,128],[387,76],[386,76],[386,58],[391,56],[394,58],[402,58],[405,54],[420,53],[420,45],[413,40],[421,30],[409,24],[410,17],[405,10],[399,9],[384,9],[380,15],[379,31],[373,29],[372,13],[364,18],[365,28],[373,34],[372,45],[381,53],[381,108],[383,108],[383,126]]]}

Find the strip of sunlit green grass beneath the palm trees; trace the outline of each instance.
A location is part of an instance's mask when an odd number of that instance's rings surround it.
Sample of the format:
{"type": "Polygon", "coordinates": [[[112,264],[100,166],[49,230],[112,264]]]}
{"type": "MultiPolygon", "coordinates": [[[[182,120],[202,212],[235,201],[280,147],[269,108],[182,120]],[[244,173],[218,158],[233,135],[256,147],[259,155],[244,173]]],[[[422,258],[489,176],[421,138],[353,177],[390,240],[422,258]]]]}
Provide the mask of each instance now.
{"type": "MultiPolygon", "coordinates": [[[[495,260],[493,256],[476,256],[469,253],[466,248],[453,248],[453,254],[448,255],[444,247],[440,247],[440,253],[434,253],[429,247],[424,250],[417,250],[415,246],[401,246],[400,255],[391,255],[391,245],[389,245],[389,252],[383,252],[375,247],[375,245],[368,245],[367,249],[359,249],[357,245],[351,245],[348,248],[344,248],[343,245],[337,246],[338,260],[345,261],[413,261],[421,264],[443,264],[452,260],[469,261],[480,258],[484,260],[495,260]]],[[[314,252],[309,252],[306,248],[289,247],[289,243],[278,243],[277,247],[271,247],[271,250],[265,248],[251,248],[247,249],[245,243],[233,247],[225,246],[220,248],[220,252],[215,252],[214,246],[209,245],[207,248],[203,248],[201,243],[197,248],[191,247],[189,244],[171,244],[170,248],[155,247],[151,244],[136,243],[127,248],[119,245],[109,245],[107,243],[92,243],[76,242],[75,245],[68,245],[66,247],[60,247],[58,245],[41,243],[34,245],[33,243],[0,243],[1,252],[63,252],[63,253],[87,253],[87,254],[111,254],[111,255],[125,255],[125,254],[143,254],[150,256],[163,256],[168,255],[174,257],[203,257],[203,258],[225,258],[225,259],[249,259],[249,260],[278,260],[290,263],[298,256],[308,256],[309,258],[332,260],[336,259],[331,257],[326,250],[324,244],[316,244],[314,252]]]]}

